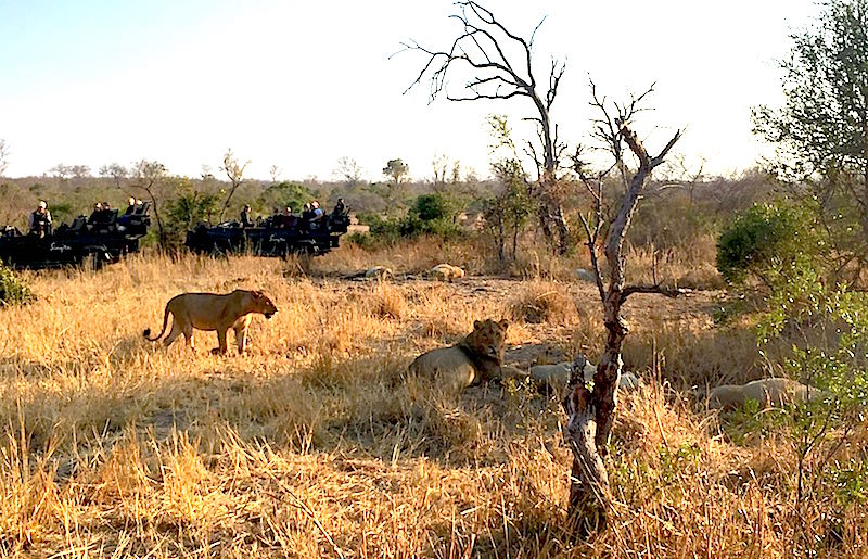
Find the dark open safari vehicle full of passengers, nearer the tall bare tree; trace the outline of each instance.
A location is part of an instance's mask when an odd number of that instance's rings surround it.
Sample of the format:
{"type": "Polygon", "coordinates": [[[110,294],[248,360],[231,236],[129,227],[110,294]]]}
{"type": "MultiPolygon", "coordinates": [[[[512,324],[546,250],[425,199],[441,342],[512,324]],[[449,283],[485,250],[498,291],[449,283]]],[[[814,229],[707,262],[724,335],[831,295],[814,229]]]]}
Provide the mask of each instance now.
{"type": "Polygon", "coordinates": [[[253,227],[238,221],[200,224],[187,232],[187,247],[200,254],[251,253],[286,257],[290,254],[318,256],[337,247],[337,239],[349,227],[346,213],[333,212],[319,218],[272,215],[253,227]]]}

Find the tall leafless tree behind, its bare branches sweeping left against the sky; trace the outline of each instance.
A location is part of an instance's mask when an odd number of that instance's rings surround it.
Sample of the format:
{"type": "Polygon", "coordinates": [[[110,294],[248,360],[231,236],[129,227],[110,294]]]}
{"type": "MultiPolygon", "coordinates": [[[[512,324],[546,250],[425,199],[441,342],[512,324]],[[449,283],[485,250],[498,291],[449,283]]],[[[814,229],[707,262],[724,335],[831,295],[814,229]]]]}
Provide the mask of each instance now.
{"type": "Polygon", "coordinates": [[[446,92],[449,101],[524,98],[533,103],[536,114],[525,120],[536,123],[541,150],[528,141],[527,153],[537,166],[537,180],[532,185],[532,194],[539,202],[539,225],[546,240],[559,254],[563,254],[569,249],[570,229],[561,204],[563,193],[559,188],[558,171],[565,144],[558,140],[558,127],[552,126],[550,112],[566,66],[557,60],[551,61],[548,88],[540,94],[534,76],[532,52],[534,37],[545,17],[531,33],[529,39],[525,40],[508,30],[478,2],[462,0],[456,5],[460,11],[450,17],[461,24],[462,30],[447,50],[432,50],[414,40],[401,43],[403,50],[419,51],[427,56],[427,63],[405,93],[427,76],[431,102],[444,92],[447,74],[452,69],[468,72],[470,77],[460,93],[446,92]]]}

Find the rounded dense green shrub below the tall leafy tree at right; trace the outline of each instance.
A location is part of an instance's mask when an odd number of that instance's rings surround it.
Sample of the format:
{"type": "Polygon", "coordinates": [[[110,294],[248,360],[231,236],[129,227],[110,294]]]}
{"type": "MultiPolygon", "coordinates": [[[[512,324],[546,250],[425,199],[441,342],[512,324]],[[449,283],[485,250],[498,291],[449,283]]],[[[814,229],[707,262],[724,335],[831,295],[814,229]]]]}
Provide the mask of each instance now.
{"type": "Polygon", "coordinates": [[[730,283],[754,276],[767,287],[818,268],[828,243],[808,208],[777,202],[754,204],[736,216],[717,241],[717,270],[730,283]]]}

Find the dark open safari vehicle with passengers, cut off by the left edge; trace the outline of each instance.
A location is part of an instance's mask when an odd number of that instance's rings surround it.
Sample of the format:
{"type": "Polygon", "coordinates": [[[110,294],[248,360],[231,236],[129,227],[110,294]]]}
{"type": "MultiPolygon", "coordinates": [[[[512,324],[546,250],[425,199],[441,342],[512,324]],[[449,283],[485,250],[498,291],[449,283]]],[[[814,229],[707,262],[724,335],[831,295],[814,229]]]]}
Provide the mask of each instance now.
{"type": "Polygon", "coordinates": [[[139,240],[151,225],[151,203],[142,202],[131,213],[118,216],[117,209],[76,217],[44,237],[24,234],[7,226],[0,234],[0,261],[11,268],[62,268],[86,263],[94,269],[116,263],[125,254],[139,251],[139,240]]]}

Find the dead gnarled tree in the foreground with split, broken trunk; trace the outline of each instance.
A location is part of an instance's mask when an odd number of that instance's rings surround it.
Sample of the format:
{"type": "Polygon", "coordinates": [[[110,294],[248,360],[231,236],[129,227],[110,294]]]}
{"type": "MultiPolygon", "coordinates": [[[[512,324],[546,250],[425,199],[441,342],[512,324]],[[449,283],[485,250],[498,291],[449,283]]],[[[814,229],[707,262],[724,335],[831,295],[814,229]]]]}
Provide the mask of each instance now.
{"type": "Polygon", "coordinates": [[[574,170],[593,200],[593,209],[588,215],[579,214],[579,217],[607,329],[605,348],[593,374],[592,389],[585,384],[585,361],[584,357],[579,357],[573,366],[563,401],[569,418],[564,439],[573,452],[567,510],[571,522],[574,522],[574,530],[582,533],[599,529],[612,506],[609,478],[602,458],[605,456],[605,444],[615,419],[617,385],[623,367],[621,351],[629,331],[627,322],[621,316],[621,308],[635,293],[659,293],[666,296],[681,293],[681,290],[659,283],[626,284],[624,239],[630,220],[652,171],[664,162],[666,154],[681,137],[681,130],[677,130],[660,153],[653,156],[642,145],[631,128],[631,119],[643,110],[641,102],[651,91],[653,86],[644,93],[633,97],[628,103],[612,103],[610,109],[605,98],[597,94],[597,88],[591,81],[591,104],[600,114],[593,120],[592,136],[612,156],[612,164],[603,170],[590,171],[589,164],[583,160],[580,148],[573,161],[574,170]],[[629,154],[633,154],[633,161],[628,161],[629,154]],[[603,211],[603,182],[613,171],[623,181],[624,196],[617,213],[608,218],[603,211]],[[598,254],[598,243],[604,226],[608,226],[603,242],[608,285],[604,283],[598,254]]]}

